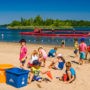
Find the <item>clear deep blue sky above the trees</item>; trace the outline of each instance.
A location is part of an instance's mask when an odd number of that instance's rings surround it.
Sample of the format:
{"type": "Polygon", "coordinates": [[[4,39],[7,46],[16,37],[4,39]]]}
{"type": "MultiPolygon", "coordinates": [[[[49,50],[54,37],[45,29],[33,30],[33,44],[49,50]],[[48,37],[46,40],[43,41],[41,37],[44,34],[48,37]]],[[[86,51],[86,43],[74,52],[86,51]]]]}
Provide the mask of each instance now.
{"type": "Polygon", "coordinates": [[[90,0],[0,0],[0,24],[37,15],[43,19],[90,21],[90,0]]]}

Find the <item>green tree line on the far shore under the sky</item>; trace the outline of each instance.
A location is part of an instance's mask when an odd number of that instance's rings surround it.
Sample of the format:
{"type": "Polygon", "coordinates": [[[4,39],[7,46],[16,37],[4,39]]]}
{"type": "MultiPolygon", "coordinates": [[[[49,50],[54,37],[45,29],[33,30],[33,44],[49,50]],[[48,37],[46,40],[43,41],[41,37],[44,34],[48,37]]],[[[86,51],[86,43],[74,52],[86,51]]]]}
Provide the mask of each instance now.
{"type": "Polygon", "coordinates": [[[43,19],[40,15],[35,18],[21,18],[21,20],[12,21],[9,26],[90,26],[90,21],[85,20],[60,20],[60,19],[43,19]]]}

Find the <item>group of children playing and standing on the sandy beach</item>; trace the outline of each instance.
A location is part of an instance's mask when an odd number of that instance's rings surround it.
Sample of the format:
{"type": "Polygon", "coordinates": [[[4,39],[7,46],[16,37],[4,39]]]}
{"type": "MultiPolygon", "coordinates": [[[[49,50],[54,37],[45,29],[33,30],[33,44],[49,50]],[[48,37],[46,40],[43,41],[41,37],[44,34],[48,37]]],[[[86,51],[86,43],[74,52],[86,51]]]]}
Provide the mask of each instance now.
{"type": "MultiPolygon", "coordinates": [[[[26,40],[21,39],[20,40],[20,67],[24,69],[25,67],[25,62],[27,59],[27,46],[26,46],[26,40]]],[[[66,68],[65,74],[62,75],[62,77],[58,77],[60,81],[64,81],[65,83],[71,83],[76,79],[76,71],[72,67],[71,62],[66,62],[64,59],[63,55],[61,53],[57,54],[57,47],[54,47],[51,49],[48,54],[45,49],[42,47],[39,47],[37,50],[33,50],[31,54],[31,58],[29,62],[27,63],[27,67],[30,68],[30,74],[29,74],[29,79],[28,83],[31,83],[32,81],[43,81],[44,79],[40,76],[40,73],[42,74],[47,74],[50,69],[54,70],[63,70],[64,66],[66,68]],[[46,66],[46,62],[48,57],[56,57],[57,59],[52,61],[50,65],[48,66],[48,70],[41,70],[41,67],[46,66]]],[[[87,45],[84,42],[84,38],[81,38],[81,43],[78,44],[78,40],[75,39],[74,42],[74,53],[75,56],[78,56],[78,51],[80,54],[80,60],[79,64],[84,63],[84,59],[87,58],[87,45]]],[[[89,51],[90,52],[90,51],[89,51]]]]}

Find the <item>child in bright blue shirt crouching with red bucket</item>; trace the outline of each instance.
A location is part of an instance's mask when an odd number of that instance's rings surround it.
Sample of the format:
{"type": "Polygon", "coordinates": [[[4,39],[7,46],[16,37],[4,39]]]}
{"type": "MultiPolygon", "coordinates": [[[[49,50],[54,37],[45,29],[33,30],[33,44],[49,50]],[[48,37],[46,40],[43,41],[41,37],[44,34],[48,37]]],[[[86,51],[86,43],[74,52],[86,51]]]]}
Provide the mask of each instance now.
{"type": "Polygon", "coordinates": [[[62,79],[65,83],[72,83],[76,79],[76,72],[74,68],[71,67],[70,62],[66,62],[66,74],[63,74],[62,79]]]}

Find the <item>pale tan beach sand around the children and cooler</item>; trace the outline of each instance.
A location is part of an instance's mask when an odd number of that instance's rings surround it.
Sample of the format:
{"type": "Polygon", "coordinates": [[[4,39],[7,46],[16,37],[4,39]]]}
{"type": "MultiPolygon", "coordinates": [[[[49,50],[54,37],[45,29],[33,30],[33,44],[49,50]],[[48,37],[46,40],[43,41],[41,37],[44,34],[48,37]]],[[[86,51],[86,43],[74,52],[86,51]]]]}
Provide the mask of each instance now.
{"type": "MultiPolygon", "coordinates": [[[[27,44],[28,47],[28,56],[30,53],[37,49],[39,46],[44,47],[44,49],[48,52],[54,45],[38,45],[38,44],[27,44]]],[[[19,67],[20,62],[19,58],[20,45],[19,43],[3,43],[0,42],[0,64],[12,64],[14,66],[19,67]]],[[[73,58],[73,48],[58,48],[57,53],[63,54],[66,61],[78,61],[78,58],[73,58]]],[[[90,56],[89,56],[90,57],[90,56]]],[[[55,59],[55,58],[54,58],[55,59]]],[[[52,58],[47,59],[47,66],[52,61],[52,58]]],[[[61,77],[65,72],[61,70],[52,70],[50,71],[53,74],[53,80],[51,82],[41,82],[39,83],[41,87],[38,86],[38,82],[32,82],[31,84],[17,89],[7,84],[0,84],[0,90],[90,90],[90,64],[86,63],[84,65],[78,65],[72,62],[72,67],[76,70],[76,80],[71,84],[65,84],[62,81],[56,79],[57,76],[61,77]]]]}

